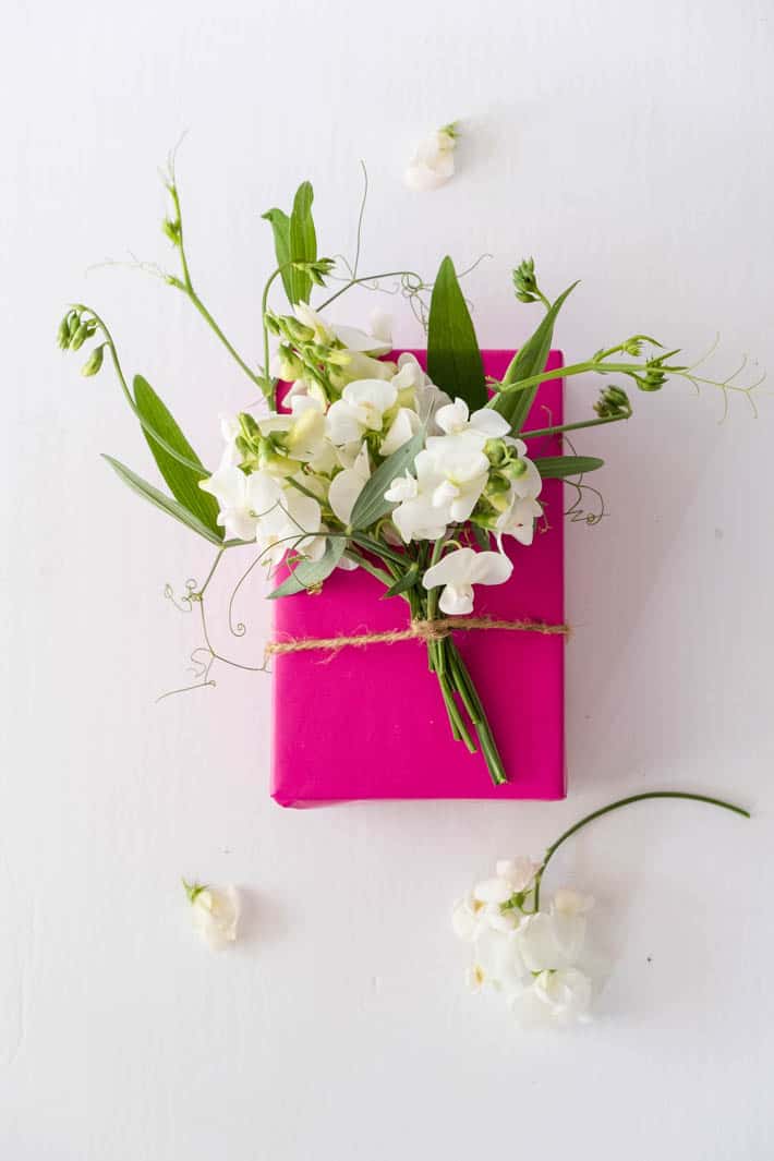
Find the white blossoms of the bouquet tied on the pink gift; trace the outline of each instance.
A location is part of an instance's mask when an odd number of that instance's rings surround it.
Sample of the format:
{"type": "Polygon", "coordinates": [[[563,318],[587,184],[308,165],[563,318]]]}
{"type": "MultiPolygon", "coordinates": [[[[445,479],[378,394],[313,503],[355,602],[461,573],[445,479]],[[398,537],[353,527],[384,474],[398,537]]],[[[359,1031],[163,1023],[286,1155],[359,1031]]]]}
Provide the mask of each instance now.
{"type": "MultiPolygon", "coordinates": [[[[383,495],[395,507],[374,535],[393,546],[436,541],[470,522],[500,549],[504,535],[531,543],[542,479],[502,416],[490,408],[471,414],[411,354],[378,358],[391,348],[383,316],[367,334],[299,304],[295,317],[274,325],[281,339],[275,373],[291,381],[290,410],[225,420],[225,454],[201,483],[216,497],[227,536],[255,541],[269,565],[289,549],[318,560],[326,533],[348,528],[376,468],[422,431],[413,463],[388,482],[383,495]]],[[[343,563],[352,567],[353,558],[343,563]]],[[[444,613],[468,613],[475,584],[500,584],[511,571],[501,551],[462,546],[428,569],[424,583],[443,586],[444,613]]]]}

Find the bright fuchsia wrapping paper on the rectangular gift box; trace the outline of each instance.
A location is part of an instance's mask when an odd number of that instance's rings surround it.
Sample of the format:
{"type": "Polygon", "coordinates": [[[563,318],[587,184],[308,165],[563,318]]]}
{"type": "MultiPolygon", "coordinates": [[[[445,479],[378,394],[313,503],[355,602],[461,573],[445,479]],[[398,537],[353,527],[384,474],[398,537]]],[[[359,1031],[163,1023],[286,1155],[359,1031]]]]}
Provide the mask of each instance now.
{"type": "MultiPolygon", "coordinates": [[[[413,352],[425,366],[425,353],[413,352]]],[[[484,352],[487,375],[502,377],[512,352],[484,352]]],[[[552,351],[547,368],[562,367],[552,351]]],[[[562,421],[562,380],[541,384],[527,427],[562,421]]],[[[560,454],[538,439],[533,455],[560,454]]],[[[543,484],[549,529],[530,547],[507,538],[513,575],[476,587],[476,614],[564,621],[562,484],[543,484]]],[[[275,633],[331,637],[406,627],[408,606],[384,599],[362,570],[337,570],[319,596],[275,601],[275,633]]],[[[455,742],[437,680],[419,641],[274,658],[274,799],[285,807],[352,799],[562,799],[564,637],[486,630],[456,641],[498,742],[509,781],[493,786],[484,759],[455,742]]]]}

